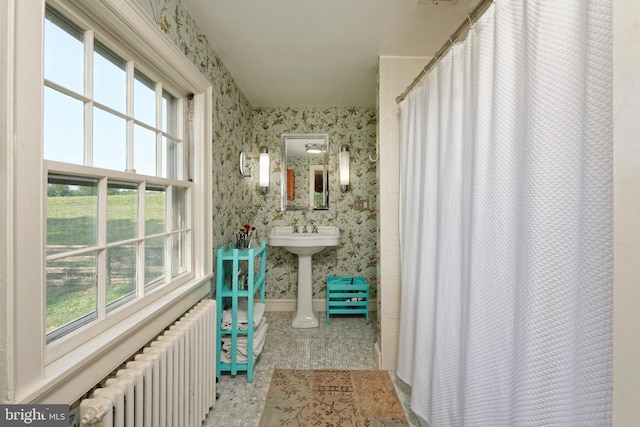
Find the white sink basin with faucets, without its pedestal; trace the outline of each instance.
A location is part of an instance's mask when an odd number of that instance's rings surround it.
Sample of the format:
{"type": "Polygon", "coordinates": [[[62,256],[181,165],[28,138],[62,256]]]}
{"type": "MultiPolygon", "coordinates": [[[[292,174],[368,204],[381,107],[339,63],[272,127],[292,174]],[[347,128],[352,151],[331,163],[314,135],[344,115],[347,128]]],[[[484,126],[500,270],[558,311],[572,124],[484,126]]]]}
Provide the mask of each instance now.
{"type": "Polygon", "coordinates": [[[273,227],[269,234],[269,246],[282,246],[296,255],[313,255],[324,248],[338,246],[338,227],[320,225],[317,228],[318,232],[312,233],[312,227],[308,226],[308,232],[303,233],[303,227],[298,226],[298,233],[294,233],[291,226],[273,227]]]}

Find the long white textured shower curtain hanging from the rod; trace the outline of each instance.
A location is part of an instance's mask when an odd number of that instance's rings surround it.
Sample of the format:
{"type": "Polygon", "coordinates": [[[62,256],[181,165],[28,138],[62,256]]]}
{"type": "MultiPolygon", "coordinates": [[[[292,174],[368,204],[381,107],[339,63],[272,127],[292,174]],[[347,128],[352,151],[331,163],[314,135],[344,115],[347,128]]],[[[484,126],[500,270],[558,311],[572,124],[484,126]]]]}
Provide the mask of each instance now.
{"type": "Polygon", "coordinates": [[[611,423],[611,2],[495,0],[401,103],[398,376],[440,426],[611,423]]]}

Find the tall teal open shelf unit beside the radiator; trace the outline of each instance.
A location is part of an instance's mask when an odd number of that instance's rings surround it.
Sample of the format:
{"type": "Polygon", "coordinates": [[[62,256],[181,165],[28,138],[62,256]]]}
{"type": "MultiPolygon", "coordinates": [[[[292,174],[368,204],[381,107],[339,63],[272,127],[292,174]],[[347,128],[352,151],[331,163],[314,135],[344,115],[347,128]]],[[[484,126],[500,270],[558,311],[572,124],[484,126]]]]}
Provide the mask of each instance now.
{"type": "Polygon", "coordinates": [[[217,339],[216,339],[216,376],[221,372],[246,371],[247,382],[253,381],[253,302],[256,294],[260,295],[260,302],[264,303],[267,242],[263,240],[259,247],[250,249],[235,249],[233,245],[218,249],[216,259],[216,308],[217,339]],[[243,268],[246,266],[246,270],[243,268]],[[246,273],[246,280],[241,280],[239,273],[246,273]],[[226,279],[226,280],[225,280],[226,279]],[[243,283],[244,282],[244,283],[243,283]],[[247,299],[247,329],[238,328],[238,302],[247,299]],[[222,313],[231,309],[231,329],[222,329],[222,313]],[[231,363],[221,360],[222,337],[231,335],[231,363]],[[237,362],[238,337],[247,337],[247,361],[237,362]]]}

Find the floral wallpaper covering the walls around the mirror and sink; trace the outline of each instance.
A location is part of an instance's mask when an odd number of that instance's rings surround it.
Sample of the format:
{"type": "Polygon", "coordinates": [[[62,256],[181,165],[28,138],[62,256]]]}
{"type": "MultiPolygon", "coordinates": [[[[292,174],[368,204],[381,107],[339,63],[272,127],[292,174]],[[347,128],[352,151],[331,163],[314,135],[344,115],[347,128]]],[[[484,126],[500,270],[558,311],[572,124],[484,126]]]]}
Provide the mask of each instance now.
{"type": "MultiPolygon", "coordinates": [[[[375,210],[355,211],[355,197],[377,206],[374,108],[258,108],[253,109],[220,58],[198,29],[180,0],[138,0],[149,16],[213,85],[213,244],[228,245],[245,222],[257,226],[258,239],[266,239],[276,225],[335,224],[341,231],[337,249],[314,256],[313,295],[324,298],[327,275],[364,276],[376,298],[375,210]],[[280,135],[282,133],[328,133],[330,146],[330,209],[328,211],[280,211],[280,135]],[[338,190],[338,150],[351,147],[351,186],[338,190]],[[259,147],[271,153],[271,186],[266,196],[258,191],[259,147]],[[253,176],[242,179],[238,155],[250,157],[253,176]]],[[[269,248],[267,298],[295,299],[297,260],[284,249],[269,248]]]]}

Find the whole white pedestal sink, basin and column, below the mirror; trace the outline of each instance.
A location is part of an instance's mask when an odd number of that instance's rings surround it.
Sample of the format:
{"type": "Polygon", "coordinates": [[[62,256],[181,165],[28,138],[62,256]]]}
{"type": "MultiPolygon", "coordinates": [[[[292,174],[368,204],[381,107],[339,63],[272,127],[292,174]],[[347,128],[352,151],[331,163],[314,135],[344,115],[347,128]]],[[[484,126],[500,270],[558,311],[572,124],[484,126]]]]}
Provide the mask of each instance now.
{"type": "Polygon", "coordinates": [[[311,257],[331,246],[338,246],[340,231],[335,226],[273,227],[269,234],[269,246],[281,246],[298,255],[298,304],[291,326],[316,328],[318,317],[313,311],[311,257]],[[306,231],[306,232],[305,232],[306,231]],[[317,231],[317,232],[316,232],[317,231]]]}

